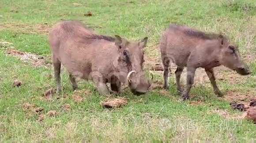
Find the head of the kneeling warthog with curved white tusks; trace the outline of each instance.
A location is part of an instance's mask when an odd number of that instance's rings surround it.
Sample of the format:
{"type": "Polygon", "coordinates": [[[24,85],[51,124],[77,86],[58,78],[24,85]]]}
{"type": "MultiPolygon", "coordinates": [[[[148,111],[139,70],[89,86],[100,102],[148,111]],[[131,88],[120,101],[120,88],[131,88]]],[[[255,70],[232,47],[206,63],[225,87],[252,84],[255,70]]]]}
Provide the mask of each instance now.
{"type": "Polygon", "coordinates": [[[122,70],[123,77],[126,77],[128,85],[133,94],[140,95],[147,93],[151,86],[151,80],[143,75],[143,48],[147,44],[147,37],[139,41],[127,41],[120,36],[115,36],[115,45],[119,50],[118,64],[122,70]]]}

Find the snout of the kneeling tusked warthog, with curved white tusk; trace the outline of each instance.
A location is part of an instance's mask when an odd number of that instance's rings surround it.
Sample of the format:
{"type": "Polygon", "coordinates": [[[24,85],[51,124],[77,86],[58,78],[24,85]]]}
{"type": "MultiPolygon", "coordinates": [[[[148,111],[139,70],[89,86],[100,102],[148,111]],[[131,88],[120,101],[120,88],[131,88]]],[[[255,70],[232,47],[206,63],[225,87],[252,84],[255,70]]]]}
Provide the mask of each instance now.
{"type": "Polygon", "coordinates": [[[152,73],[151,80],[148,80],[143,75],[136,73],[135,71],[129,72],[127,76],[130,89],[132,93],[137,96],[147,93],[153,78],[152,73]]]}

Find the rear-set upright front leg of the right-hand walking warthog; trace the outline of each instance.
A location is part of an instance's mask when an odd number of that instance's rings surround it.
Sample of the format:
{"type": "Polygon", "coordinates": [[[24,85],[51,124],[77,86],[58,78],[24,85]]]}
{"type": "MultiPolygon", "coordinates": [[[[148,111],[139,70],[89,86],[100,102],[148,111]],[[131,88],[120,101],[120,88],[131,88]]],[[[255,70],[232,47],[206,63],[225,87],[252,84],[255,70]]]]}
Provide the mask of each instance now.
{"type": "Polygon", "coordinates": [[[189,98],[188,94],[191,89],[191,86],[194,84],[195,72],[196,72],[196,68],[187,67],[187,85],[182,94],[182,97],[184,100],[189,98]]]}

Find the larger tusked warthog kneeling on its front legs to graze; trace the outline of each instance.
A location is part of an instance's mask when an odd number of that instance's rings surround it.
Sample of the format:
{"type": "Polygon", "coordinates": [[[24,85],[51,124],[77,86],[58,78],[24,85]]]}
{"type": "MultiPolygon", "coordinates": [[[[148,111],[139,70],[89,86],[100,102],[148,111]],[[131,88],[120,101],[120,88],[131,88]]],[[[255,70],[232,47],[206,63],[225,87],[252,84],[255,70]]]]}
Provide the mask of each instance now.
{"type": "Polygon", "coordinates": [[[49,32],[57,92],[63,64],[74,90],[77,89],[75,77],[79,77],[92,80],[100,94],[109,93],[106,83],[116,92],[120,91],[121,83],[128,83],[132,93],[146,93],[151,86],[151,80],[143,76],[146,43],[147,37],[135,42],[120,36],[97,35],[79,21],[57,23],[49,32]]]}

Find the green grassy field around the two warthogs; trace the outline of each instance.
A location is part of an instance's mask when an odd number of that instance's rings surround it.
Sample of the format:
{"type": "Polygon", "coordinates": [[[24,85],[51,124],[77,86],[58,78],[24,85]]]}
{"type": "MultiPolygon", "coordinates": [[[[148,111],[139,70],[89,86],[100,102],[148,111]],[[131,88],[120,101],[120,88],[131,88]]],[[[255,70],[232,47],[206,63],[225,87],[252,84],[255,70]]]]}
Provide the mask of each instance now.
{"type": "MultiPolygon", "coordinates": [[[[255,0],[0,0],[0,142],[256,142],[256,125],[229,104],[256,97],[255,34],[255,0]],[[85,16],[87,11],[92,16],[85,16]],[[216,97],[207,79],[196,82],[192,99],[181,101],[171,71],[168,91],[112,95],[128,98],[128,104],[110,110],[100,105],[107,97],[99,96],[91,82],[81,80],[79,91],[73,92],[62,70],[63,91],[45,99],[45,91],[56,86],[50,76],[48,32],[62,19],[80,20],[104,35],[134,40],[148,36],[149,66],[161,62],[158,40],[170,22],[222,32],[239,47],[252,74],[218,68],[217,82],[225,97],[216,97]],[[44,59],[38,66],[10,48],[44,59]],[[15,79],[22,86],[12,87],[15,79]],[[41,115],[34,112],[36,107],[43,108],[41,115]],[[49,111],[56,116],[47,115],[49,111]]],[[[162,72],[154,75],[163,81],[162,72]]]]}

